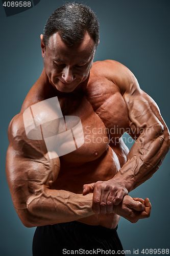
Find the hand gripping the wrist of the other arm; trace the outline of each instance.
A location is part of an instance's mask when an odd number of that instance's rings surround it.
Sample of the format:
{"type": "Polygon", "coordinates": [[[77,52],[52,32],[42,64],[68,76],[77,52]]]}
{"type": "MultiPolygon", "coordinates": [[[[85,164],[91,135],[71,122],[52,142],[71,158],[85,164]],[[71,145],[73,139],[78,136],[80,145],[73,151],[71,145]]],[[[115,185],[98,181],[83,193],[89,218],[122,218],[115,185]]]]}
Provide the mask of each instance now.
{"type": "Polygon", "coordinates": [[[122,202],[123,197],[128,195],[128,190],[122,183],[108,180],[85,184],[83,195],[88,193],[93,193],[93,211],[95,214],[111,214],[113,205],[122,202]]]}

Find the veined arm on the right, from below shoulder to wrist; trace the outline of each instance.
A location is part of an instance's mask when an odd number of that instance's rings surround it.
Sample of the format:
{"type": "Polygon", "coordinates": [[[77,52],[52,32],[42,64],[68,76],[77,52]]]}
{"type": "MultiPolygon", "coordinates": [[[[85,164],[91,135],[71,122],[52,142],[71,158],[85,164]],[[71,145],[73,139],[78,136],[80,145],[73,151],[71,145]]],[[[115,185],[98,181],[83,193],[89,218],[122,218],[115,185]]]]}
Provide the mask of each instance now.
{"type": "Polygon", "coordinates": [[[115,175],[128,191],[151,178],[170,146],[169,132],[154,100],[136,89],[124,94],[130,120],[130,135],[136,140],[127,162],[115,175]]]}

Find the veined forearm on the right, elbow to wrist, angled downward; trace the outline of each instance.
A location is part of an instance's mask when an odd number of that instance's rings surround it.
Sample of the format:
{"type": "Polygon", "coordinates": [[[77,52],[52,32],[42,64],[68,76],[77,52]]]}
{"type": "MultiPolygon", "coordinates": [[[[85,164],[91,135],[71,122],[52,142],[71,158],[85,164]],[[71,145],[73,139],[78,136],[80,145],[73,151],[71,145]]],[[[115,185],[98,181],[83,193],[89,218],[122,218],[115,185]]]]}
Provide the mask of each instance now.
{"type": "Polygon", "coordinates": [[[145,128],[132,146],[127,162],[114,176],[114,181],[121,181],[130,192],[151,178],[162,163],[169,150],[169,133],[167,127],[161,130],[155,124],[145,128]]]}

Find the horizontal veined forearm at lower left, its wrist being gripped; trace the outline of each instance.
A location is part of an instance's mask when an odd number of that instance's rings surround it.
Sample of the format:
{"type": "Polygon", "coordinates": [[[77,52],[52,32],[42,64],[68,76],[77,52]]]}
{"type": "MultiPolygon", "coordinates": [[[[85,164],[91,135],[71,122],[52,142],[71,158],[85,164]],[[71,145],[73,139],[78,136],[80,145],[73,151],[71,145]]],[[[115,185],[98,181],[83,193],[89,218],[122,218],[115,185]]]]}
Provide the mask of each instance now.
{"type": "Polygon", "coordinates": [[[45,187],[39,195],[28,199],[26,208],[15,206],[15,209],[23,225],[27,227],[75,221],[94,214],[92,194],[83,196],[45,187]]]}

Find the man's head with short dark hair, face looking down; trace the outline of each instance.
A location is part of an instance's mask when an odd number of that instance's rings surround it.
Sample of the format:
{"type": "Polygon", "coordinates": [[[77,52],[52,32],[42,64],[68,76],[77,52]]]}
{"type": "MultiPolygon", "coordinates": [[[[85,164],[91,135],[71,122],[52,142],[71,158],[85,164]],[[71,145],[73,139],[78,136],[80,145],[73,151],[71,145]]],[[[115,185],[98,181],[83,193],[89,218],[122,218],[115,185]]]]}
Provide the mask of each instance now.
{"type": "Polygon", "coordinates": [[[41,35],[45,72],[59,91],[71,92],[90,72],[99,22],[87,6],[67,3],[48,18],[41,35]]]}

